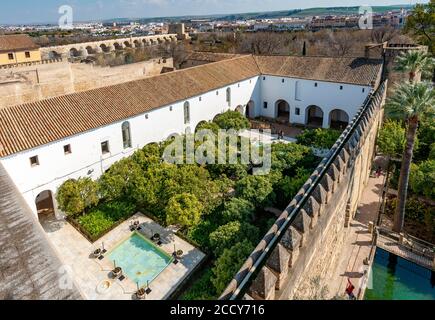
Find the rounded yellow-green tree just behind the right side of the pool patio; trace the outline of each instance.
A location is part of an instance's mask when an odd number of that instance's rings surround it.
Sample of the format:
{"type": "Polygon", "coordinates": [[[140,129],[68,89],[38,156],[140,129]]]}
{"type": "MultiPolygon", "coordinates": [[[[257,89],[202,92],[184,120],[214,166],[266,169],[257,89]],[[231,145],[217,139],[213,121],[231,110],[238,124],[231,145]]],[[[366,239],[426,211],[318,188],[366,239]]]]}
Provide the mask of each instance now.
{"type": "Polygon", "coordinates": [[[189,228],[199,223],[203,205],[190,193],[173,196],[166,206],[166,222],[189,228]]]}

